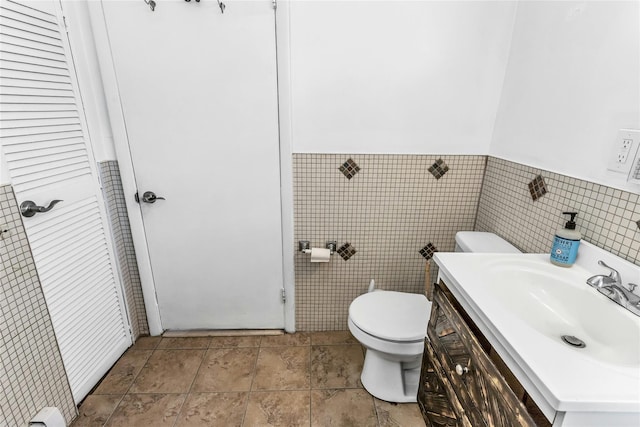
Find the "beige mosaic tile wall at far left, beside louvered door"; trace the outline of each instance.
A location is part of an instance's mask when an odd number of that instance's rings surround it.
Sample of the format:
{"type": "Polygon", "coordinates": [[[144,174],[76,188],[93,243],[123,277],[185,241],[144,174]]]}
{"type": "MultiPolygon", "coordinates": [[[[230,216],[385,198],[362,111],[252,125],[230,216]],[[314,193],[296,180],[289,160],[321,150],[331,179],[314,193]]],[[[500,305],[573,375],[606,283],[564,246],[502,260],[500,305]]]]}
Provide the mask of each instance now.
{"type": "Polygon", "coordinates": [[[13,189],[0,186],[0,426],[24,426],[45,406],[67,422],[76,406],[13,189]]]}

